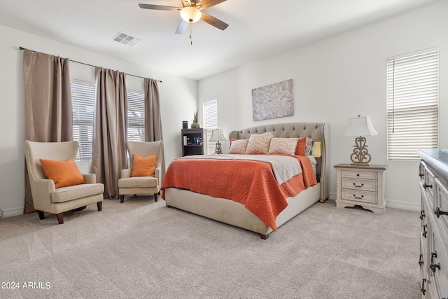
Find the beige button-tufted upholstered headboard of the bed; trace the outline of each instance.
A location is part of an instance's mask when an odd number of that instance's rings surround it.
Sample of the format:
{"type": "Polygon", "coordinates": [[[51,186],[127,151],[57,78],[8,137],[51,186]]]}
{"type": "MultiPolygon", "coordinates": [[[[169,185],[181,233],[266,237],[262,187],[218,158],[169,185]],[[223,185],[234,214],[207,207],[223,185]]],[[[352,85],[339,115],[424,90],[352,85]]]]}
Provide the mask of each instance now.
{"type": "Polygon", "coordinates": [[[321,183],[321,201],[328,198],[328,176],[330,174],[330,159],[328,153],[329,127],[326,123],[279,123],[273,125],[259,125],[248,129],[232,131],[229,139],[248,139],[251,134],[275,132],[274,137],[301,138],[309,137],[314,141],[321,141],[321,157],[316,158],[316,176],[321,183]]]}

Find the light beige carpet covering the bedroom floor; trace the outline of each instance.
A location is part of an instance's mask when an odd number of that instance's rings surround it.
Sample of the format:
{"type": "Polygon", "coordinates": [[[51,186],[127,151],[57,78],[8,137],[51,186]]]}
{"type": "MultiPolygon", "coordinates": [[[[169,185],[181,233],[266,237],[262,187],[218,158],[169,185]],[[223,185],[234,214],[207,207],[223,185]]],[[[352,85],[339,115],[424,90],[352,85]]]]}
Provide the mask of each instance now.
{"type": "Polygon", "coordinates": [[[316,203],[269,239],[151,196],[0,219],[0,298],[421,298],[419,213],[316,203]]]}

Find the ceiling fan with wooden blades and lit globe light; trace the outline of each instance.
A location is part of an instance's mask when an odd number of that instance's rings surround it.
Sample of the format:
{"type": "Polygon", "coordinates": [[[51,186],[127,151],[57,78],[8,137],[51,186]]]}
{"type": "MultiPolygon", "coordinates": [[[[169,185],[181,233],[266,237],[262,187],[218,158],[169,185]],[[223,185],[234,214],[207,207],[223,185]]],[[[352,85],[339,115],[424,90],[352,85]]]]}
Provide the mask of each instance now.
{"type": "Polygon", "coordinates": [[[182,20],[176,29],[176,34],[183,34],[187,29],[188,24],[195,23],[199,20],[203,20],[221,30],[227,28],[229,25],[225,22],[202,12],[203,9],[215,6],[224,1],[226,0],[185,0],[182,1],[182,7],[153,4],[139,4],[139,6],[140,8],[155,9],[158,11],[180,11],[182,20]]]}

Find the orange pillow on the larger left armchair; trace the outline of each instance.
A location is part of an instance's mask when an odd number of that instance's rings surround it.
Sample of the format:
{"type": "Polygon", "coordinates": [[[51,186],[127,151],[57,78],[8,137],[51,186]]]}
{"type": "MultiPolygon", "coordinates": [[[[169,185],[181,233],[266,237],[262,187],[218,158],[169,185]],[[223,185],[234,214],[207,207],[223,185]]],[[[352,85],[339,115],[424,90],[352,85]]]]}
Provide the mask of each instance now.
{"type": "Polygon", "coordinates": [[[55,182],[55,188],[74,186],[84,183],[83,174],[80,173],[75,159],[66,161],[39,159],[47,179],[55,182]]]}

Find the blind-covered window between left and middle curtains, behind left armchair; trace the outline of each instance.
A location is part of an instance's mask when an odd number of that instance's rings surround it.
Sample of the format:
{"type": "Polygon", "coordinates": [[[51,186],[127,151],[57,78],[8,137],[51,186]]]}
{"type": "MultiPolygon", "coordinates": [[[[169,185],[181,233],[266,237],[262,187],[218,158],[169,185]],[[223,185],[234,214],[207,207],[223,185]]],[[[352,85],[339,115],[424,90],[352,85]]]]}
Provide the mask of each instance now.
{"type": "Polygon", "coordinates": [[[91,161],[94,84],[71,80],[71,106],[73,110],[73,140],[79,143],[76,161],[91,161]]]}

